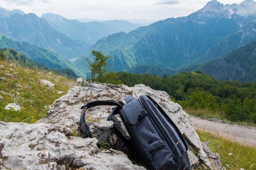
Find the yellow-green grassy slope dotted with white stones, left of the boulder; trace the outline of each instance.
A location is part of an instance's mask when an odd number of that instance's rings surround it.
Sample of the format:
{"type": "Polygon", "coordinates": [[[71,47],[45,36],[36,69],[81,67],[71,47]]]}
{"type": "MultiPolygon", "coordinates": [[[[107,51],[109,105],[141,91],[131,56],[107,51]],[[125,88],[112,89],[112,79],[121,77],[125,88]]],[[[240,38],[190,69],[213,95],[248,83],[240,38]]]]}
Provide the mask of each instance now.
{"type": "Polygon", "coordinates": [[[37,67],[24,68],[8,61],[0,61],[0,121],[34,123],[45,117],[49,106],[64,95],[74,80],[41,71],[37,67]],[[54,88],[42,85],[40,79],[46,79],[54,84],[54,88]],[[63,83],[65,82],[65,83],[63,83]],[[5,110],[9,103],[18,103],[21,110],[5,110]]]}

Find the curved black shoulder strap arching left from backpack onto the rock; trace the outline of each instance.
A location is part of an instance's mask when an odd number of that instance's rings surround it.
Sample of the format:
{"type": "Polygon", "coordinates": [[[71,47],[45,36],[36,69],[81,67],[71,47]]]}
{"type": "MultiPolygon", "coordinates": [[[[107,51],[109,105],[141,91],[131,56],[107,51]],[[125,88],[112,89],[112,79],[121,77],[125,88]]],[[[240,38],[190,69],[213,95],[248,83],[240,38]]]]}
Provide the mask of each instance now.
{"type": "Polygon", "coordinates": [[[86,124],[86,119],[85,119],[85,110],[88,108],[94,107],[94,106],[100,106],[100,105],[108,105],[108,106],[117,106],[117,108],[121,108],[123,103],[122,102],[115,102],[111,100],[106,100],[106,101],[94,101],[90,102],[84,106],[81,107],[82,113],[80,115],[80,123],[79,123],[79,131],[81,132],[81,135],[83,138],[86,137],[92,137],[92,134],[90,132],[89,126],[86,124]]]}

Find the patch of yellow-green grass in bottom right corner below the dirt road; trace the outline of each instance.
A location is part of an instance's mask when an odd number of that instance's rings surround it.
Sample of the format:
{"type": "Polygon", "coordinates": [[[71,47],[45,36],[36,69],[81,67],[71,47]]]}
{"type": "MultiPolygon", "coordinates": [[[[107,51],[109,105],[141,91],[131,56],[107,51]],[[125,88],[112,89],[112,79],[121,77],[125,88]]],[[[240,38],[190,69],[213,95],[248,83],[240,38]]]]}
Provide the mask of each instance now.
{"type": "Polygon", "coordinates": [[[201,141],[207,141],[212,152],[220,155],[222,165],[227,170],[256,170],[256,147],[243,146],[231,142],[222,135],[196,130],[201,141]]]}

